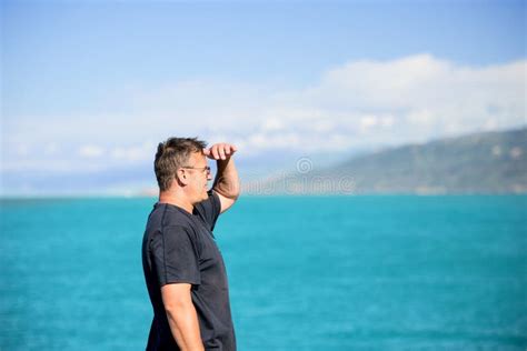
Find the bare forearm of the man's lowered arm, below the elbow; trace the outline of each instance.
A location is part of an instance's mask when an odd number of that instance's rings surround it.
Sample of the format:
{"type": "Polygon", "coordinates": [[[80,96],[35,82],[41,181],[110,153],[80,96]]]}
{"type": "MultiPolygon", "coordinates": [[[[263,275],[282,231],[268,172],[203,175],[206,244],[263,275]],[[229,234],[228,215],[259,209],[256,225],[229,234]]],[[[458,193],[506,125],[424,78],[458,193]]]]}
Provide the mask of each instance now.
{"type": "Polygon", "coordinates": [[[198,314],[192,303],[167,310],[168,323],[181,351],[202,351],[198,314]]]}

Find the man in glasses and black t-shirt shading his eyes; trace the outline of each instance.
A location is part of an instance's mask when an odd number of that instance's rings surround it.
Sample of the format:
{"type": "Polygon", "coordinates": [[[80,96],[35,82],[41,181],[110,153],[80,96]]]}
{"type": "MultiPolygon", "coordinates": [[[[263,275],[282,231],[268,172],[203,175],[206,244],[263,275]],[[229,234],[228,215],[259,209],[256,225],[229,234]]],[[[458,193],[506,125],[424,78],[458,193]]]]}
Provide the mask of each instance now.
{"type": "Polygon", "coordinates": [[[159,201],[148,218],[142,265],[153,307],[147,350],[236,350],[227,273],[212,230],[239,195],[236,147],[196,138],[159,143],[159,201]],[[217,160],[212,189],[207,158],[217,160]]]}

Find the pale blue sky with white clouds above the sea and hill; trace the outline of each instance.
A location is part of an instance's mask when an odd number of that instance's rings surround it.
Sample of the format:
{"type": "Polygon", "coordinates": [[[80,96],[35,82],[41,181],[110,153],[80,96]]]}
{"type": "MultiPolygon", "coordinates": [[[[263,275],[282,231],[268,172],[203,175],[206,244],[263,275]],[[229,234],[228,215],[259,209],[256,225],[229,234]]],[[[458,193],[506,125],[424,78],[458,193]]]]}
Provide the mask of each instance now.
{"type": "Polygon", "coordinates": [[[1,7],[3,193],[149,166],[170,134],[250,161],[525,124],[525,1],[1,7]]]}

